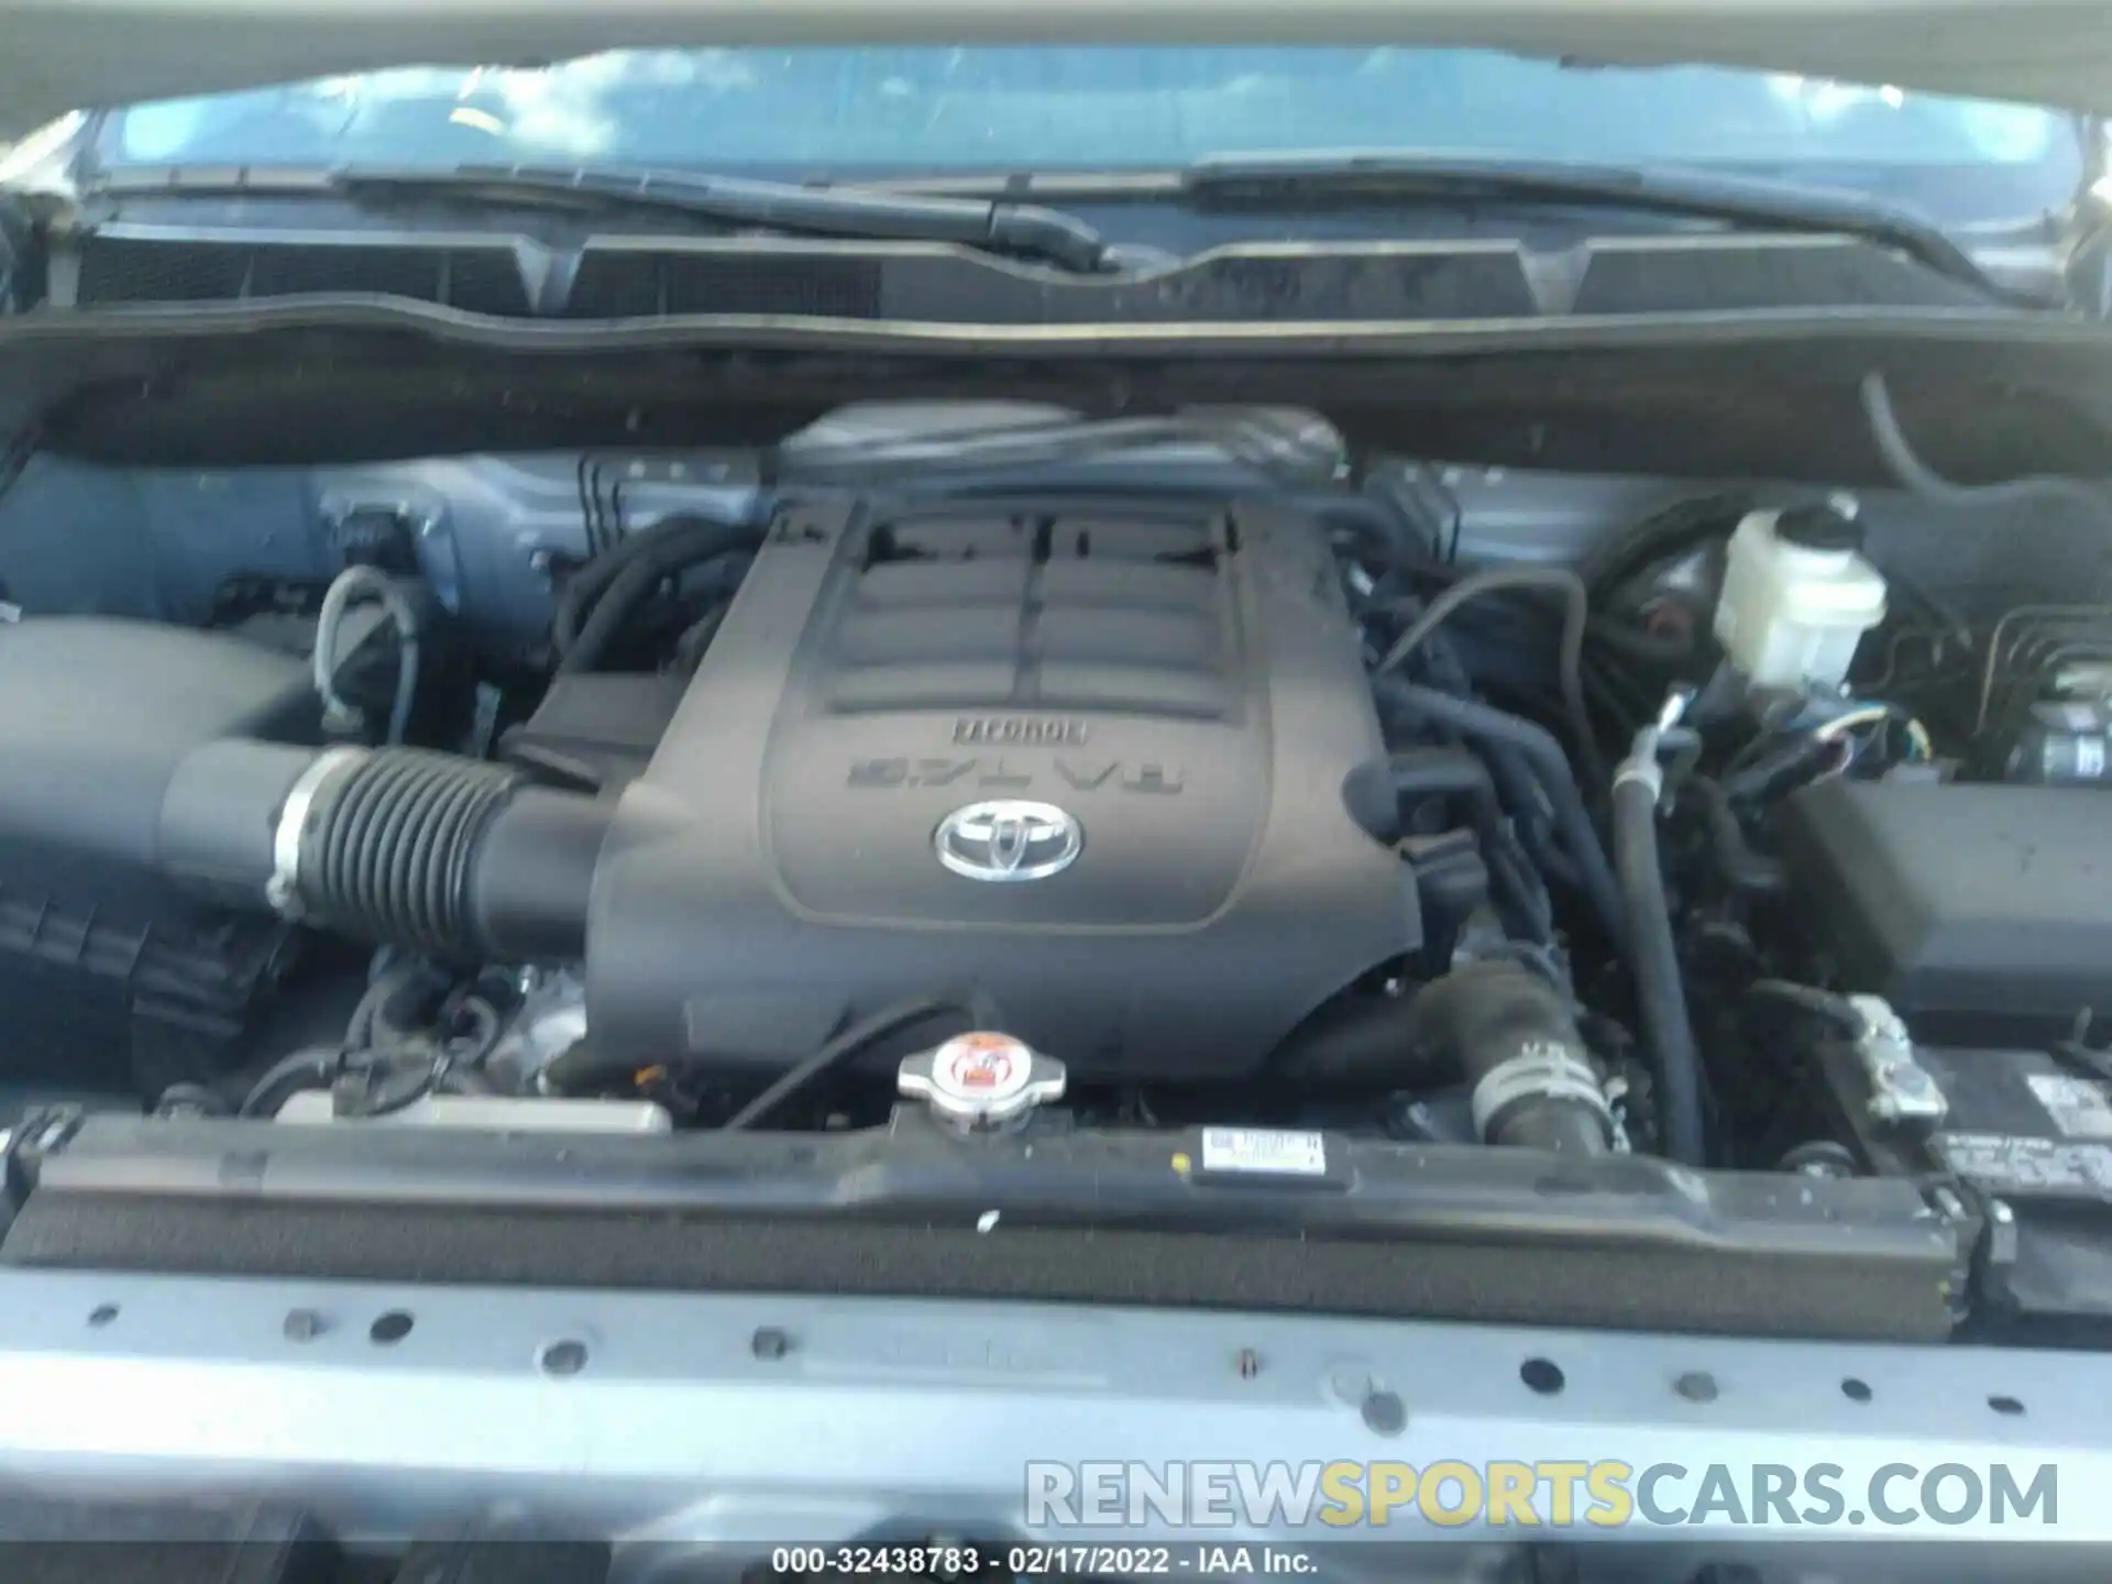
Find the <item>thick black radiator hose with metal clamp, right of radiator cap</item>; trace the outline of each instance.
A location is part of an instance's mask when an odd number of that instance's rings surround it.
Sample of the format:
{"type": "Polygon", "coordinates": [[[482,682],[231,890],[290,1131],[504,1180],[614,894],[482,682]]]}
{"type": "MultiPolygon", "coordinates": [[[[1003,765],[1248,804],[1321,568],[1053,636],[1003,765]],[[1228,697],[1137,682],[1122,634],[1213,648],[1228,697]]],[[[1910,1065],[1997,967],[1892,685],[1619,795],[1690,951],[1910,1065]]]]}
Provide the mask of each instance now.
{"type": "Polygon", "coordinates": [[[1271,1075],[1316,1090],[1464,1081],[1485,1143],[1603,1155],[1611,1111],[1561,991],[1516,963],[1468,963],[1411,997],[1309,1018],[1271,1075]]]}

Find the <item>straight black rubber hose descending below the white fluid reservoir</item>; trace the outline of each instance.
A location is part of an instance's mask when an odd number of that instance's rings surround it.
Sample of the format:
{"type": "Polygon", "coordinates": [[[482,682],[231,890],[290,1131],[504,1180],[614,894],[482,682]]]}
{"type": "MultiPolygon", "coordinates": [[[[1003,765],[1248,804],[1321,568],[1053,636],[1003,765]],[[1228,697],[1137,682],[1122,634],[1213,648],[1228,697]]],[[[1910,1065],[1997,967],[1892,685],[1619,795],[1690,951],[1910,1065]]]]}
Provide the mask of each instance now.
{"type": "Polygon", "coordinates": [[[1702,1075],[1679,978],[1673,919],[1664,906],[1664,870],[1658,862],[1658,788],[1639,775],[1614,781],[1614,864],[1628,910],[1628,963],[1643,1050],[1658,1088],[1658,1124],[1664,1155],[1702,1166],[1702,1075]]]}

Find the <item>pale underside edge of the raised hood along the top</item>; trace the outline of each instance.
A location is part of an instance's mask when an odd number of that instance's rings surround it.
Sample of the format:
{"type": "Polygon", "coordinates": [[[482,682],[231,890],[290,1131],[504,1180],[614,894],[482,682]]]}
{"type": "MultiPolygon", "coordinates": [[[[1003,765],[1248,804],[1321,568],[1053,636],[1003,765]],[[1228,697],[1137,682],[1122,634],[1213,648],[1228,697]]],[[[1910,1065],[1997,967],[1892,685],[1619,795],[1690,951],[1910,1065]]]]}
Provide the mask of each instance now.
{"type": "Polygon", "coordinates": [[[2112,106],[2108,11],[2080,0],[0,0],[0,137],[384,65],[794,42],[1481,46],[2112,106]]]}

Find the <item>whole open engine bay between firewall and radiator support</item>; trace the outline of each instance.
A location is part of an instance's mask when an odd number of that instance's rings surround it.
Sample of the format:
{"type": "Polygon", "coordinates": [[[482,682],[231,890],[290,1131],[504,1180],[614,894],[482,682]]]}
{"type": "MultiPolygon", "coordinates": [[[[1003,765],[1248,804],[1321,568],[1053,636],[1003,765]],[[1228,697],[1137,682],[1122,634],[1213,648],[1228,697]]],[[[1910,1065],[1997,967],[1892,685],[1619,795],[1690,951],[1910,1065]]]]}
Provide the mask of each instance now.
{"type": "Polygon", "coordinates": [[[220,475],[300,530],[150,589],[207,475],[32,467],[13,1109],[1897,1178],[2112,1320],[2101,520],[885,422],[220,475]]]}

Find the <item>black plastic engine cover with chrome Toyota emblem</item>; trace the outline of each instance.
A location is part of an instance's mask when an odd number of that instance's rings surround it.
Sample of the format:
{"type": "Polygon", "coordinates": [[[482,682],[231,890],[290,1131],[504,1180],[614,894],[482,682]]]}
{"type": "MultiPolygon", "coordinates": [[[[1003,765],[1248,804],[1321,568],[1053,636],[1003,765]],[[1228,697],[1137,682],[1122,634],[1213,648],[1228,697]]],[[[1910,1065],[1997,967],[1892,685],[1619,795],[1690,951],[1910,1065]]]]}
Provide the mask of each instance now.
{"type": "Polygon", "coordinates": [[[792,507],[617,811],[596,1043],[775,1067],[980,984],[1079,1075],[1238,1077],[1419,946],[1379,754],[1301,515],[792,507]]]}

